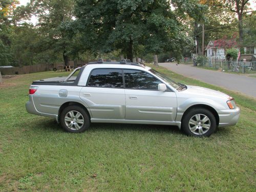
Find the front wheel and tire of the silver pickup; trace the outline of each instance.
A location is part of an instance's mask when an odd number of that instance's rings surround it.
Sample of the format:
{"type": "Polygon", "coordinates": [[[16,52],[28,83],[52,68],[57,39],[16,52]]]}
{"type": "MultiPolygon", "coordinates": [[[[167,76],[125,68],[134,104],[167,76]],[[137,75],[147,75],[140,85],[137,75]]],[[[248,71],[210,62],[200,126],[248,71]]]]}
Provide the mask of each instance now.
{"type": "Polygon", "coordinates": [[[216,118],[207,109],[194,108],[182,118],[181,129],[188,136],[209,137],[217,129],[216,118]]]}

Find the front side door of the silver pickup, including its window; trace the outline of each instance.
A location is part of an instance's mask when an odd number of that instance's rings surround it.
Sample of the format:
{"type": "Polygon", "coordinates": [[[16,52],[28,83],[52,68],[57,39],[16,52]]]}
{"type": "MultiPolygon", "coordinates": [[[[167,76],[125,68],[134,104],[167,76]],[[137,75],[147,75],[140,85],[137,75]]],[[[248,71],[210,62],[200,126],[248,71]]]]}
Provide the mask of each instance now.
{"type": "Polygon", "coordinates": [[[158,91],[162,83],[153,75],[140,70],[124,70],[125,119],[148,121],[175,121],[176,93],[158,91]]]}

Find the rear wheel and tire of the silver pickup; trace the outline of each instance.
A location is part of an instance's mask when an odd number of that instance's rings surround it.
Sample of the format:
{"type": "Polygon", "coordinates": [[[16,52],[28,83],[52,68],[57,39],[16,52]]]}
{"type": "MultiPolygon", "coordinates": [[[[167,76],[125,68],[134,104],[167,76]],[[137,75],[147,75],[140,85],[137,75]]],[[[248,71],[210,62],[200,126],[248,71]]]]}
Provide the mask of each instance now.
{"type": "Polygon", "coordinates": [[[90,116],[81,106],[68,106],[60,114],[60,125],[67,132],[82,133],[89,129],[90,124],[90,116]]]}

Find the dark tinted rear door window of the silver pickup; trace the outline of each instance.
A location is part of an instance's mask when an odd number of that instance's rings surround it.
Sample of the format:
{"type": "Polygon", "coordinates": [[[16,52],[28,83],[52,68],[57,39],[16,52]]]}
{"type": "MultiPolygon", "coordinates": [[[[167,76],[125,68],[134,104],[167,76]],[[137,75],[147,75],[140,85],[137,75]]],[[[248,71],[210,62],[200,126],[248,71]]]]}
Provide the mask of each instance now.
{"type": "Polygon", "coordinates": [[[122,70],[95,69],[88,82],[89,87],[123,88],[122,70]]]}

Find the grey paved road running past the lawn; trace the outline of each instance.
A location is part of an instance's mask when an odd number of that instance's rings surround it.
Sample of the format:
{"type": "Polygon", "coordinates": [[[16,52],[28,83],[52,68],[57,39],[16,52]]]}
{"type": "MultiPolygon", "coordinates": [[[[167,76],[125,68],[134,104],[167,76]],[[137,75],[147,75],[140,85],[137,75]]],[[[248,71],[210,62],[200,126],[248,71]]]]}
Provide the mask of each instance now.
{"type": "Polygon", "coordinates": [[[256,78],[254,77],[200,69],[191,65],[179,64],[176,66],[175,63],[167,62],[159,63],[159,65],[186,77],[198,79],[256,98],[256,78]]]}

